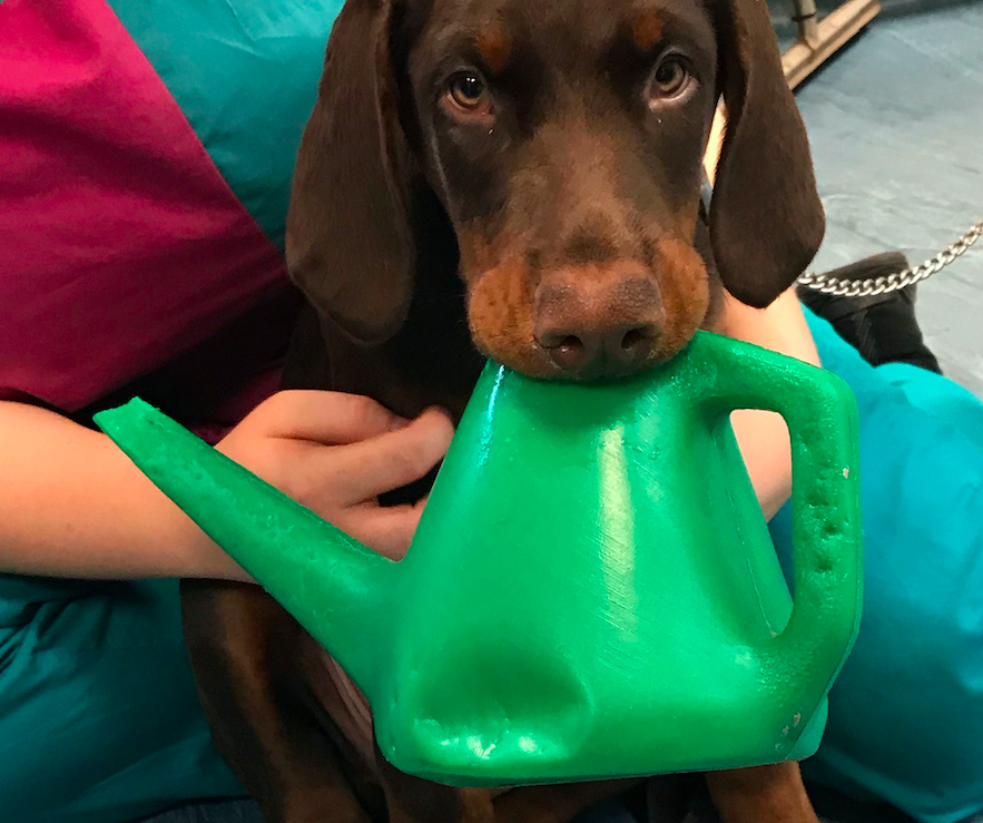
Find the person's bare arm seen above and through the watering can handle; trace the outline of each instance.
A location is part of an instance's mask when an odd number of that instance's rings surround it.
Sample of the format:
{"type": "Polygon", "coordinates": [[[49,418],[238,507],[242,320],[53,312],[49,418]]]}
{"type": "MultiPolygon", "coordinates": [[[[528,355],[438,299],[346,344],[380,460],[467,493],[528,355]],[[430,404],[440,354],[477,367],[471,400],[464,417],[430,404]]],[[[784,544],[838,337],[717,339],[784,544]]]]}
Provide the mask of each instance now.
{"type": "MultiPolygon", "coordinates": [[[[819,365],[819,353],[794,290],[764,310],[730,295],[714,331],[819,365]]],[[[785,421],[774,412],[737,411],[734,433],[765,518],[770,520],[792,496],[792,447],[785,421]]]]}

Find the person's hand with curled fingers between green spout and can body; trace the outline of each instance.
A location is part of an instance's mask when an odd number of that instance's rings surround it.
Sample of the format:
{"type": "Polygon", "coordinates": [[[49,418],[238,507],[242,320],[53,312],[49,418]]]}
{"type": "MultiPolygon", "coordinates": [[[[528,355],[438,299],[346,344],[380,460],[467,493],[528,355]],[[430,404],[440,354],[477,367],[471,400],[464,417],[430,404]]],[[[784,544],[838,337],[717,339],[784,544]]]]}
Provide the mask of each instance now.
{"type": "Polygon", "coordinates": [[[423,502],[381,507],[380,494],[422,478],[453,437],[443,412],[396,417],[368,398],[283,391],[261,403],[217,449],[391,558],[410,546],[423,502]]]}

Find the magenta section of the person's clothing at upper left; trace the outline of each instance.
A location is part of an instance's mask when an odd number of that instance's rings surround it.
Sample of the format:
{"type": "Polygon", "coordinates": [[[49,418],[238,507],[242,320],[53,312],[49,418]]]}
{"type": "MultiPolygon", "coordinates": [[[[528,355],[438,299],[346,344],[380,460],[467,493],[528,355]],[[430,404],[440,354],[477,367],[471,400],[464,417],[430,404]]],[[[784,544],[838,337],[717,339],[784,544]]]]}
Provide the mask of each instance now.
{"type": "Polygon", "coordinates": [[[0,31],[0,398],[70,413],[230,353],[188,415],[235,422],[276,386],[282,256],[104,0],[6,0],[0,31]]]}

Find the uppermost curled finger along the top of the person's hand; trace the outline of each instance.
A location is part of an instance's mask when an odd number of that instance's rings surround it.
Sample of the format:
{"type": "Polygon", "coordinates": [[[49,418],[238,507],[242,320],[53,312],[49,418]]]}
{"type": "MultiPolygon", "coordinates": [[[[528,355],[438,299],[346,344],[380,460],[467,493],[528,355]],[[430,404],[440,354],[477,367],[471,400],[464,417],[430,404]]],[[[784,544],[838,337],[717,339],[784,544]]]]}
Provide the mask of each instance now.
{"type": "Polygon", "coordinates": [[[360,394],[301,389],[277,392],[250,417],[267,437],[326,445],[356,443],[410,422],[360,394]]]}

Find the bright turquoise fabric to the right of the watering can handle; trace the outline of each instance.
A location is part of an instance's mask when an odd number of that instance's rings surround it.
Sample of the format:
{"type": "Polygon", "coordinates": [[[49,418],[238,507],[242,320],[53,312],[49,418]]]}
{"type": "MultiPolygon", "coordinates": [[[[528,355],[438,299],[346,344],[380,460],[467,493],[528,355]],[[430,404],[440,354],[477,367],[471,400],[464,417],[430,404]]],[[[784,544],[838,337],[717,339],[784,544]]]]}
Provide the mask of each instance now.
{"type": "MultiPolygon", "coordinates": [[[[913,366],[875,369],[807,316],[824,366],[857,396],[865,594],[826,736],[803,768],[955,823],[983,810],[983,403],[913,366]]],[[[771,522],[786,576],[788,508],[771,522]]]]}

